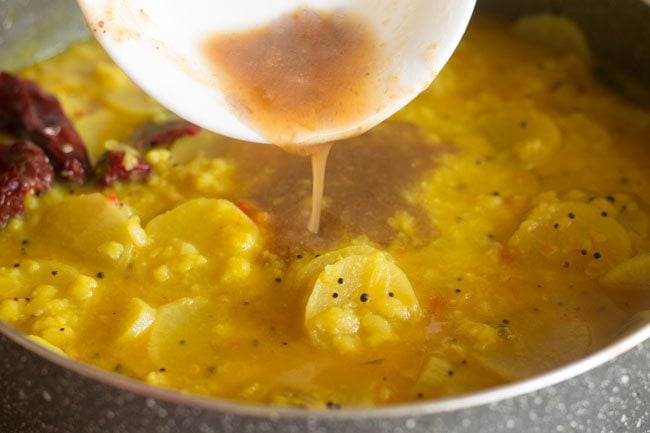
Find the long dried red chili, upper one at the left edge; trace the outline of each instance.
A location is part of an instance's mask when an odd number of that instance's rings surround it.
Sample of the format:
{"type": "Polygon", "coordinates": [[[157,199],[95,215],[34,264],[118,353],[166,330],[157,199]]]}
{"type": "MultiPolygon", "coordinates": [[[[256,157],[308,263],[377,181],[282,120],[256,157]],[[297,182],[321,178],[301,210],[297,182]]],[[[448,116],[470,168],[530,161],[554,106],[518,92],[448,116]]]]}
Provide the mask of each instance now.
{"type": "Polygon", "coordinates": [[[86,147],[59,101],[33,81],[0,71],[0,131],[39,145],[65,179],[91,172],[86,147]]]}

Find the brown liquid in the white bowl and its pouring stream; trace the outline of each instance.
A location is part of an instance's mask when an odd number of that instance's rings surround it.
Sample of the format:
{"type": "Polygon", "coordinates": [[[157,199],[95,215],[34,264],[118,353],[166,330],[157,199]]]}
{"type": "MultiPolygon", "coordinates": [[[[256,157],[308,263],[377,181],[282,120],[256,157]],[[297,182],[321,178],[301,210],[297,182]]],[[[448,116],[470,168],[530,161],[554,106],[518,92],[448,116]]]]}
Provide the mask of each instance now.
{"type": "MultiPolygon", "coordinates": [[[[312,217],[318,232],[330,145],[301,144],[314,132],[349,129],[376,111],[376,43],[345,12],[299,9],[270,25],[209,38],[204,51],[229,103],[271,143],[312,155],[312,217]]],[[[343,138],[342,136],[340,138],[343,138]]]]}

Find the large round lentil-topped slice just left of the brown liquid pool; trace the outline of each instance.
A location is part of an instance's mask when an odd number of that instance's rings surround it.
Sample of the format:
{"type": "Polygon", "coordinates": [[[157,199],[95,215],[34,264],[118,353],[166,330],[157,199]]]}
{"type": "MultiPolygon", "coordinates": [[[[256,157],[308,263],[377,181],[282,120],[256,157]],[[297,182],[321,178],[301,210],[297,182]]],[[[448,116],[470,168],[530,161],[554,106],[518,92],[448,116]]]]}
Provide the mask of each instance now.
{"type": "Polygon", "coordinates": [[[150,243],[136,266],[179,296],[188,286],[241,291],[260,249],[258,227],[227,200],[190,200],[152,219],[146,232],[150,243]]]}

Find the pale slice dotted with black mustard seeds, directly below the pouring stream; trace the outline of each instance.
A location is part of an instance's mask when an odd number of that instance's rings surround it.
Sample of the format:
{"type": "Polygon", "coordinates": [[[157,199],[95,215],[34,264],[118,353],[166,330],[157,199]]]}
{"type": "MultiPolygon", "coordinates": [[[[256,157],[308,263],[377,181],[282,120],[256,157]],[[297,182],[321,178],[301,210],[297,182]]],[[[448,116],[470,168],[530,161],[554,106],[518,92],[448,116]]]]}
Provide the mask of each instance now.
{"type": "Polygon", "coordinates": [[[396,340],[400,328],[420,316],[404,272],[374,250],[324,266],[307,300],[305,327],[317,346],[347,352],[396,340]]]}

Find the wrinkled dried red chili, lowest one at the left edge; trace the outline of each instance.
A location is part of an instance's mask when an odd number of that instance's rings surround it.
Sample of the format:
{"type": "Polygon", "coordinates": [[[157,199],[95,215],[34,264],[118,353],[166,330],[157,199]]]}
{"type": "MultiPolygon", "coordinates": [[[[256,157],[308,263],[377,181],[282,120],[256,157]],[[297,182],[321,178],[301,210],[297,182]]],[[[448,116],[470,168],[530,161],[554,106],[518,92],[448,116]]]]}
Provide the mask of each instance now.
{"type": "Polygon", "coordinates": [[[0,227],[25,210],[25,196],[50,188],[54,170],[45,152],[30,141],[0,147],[0,227]]]}

